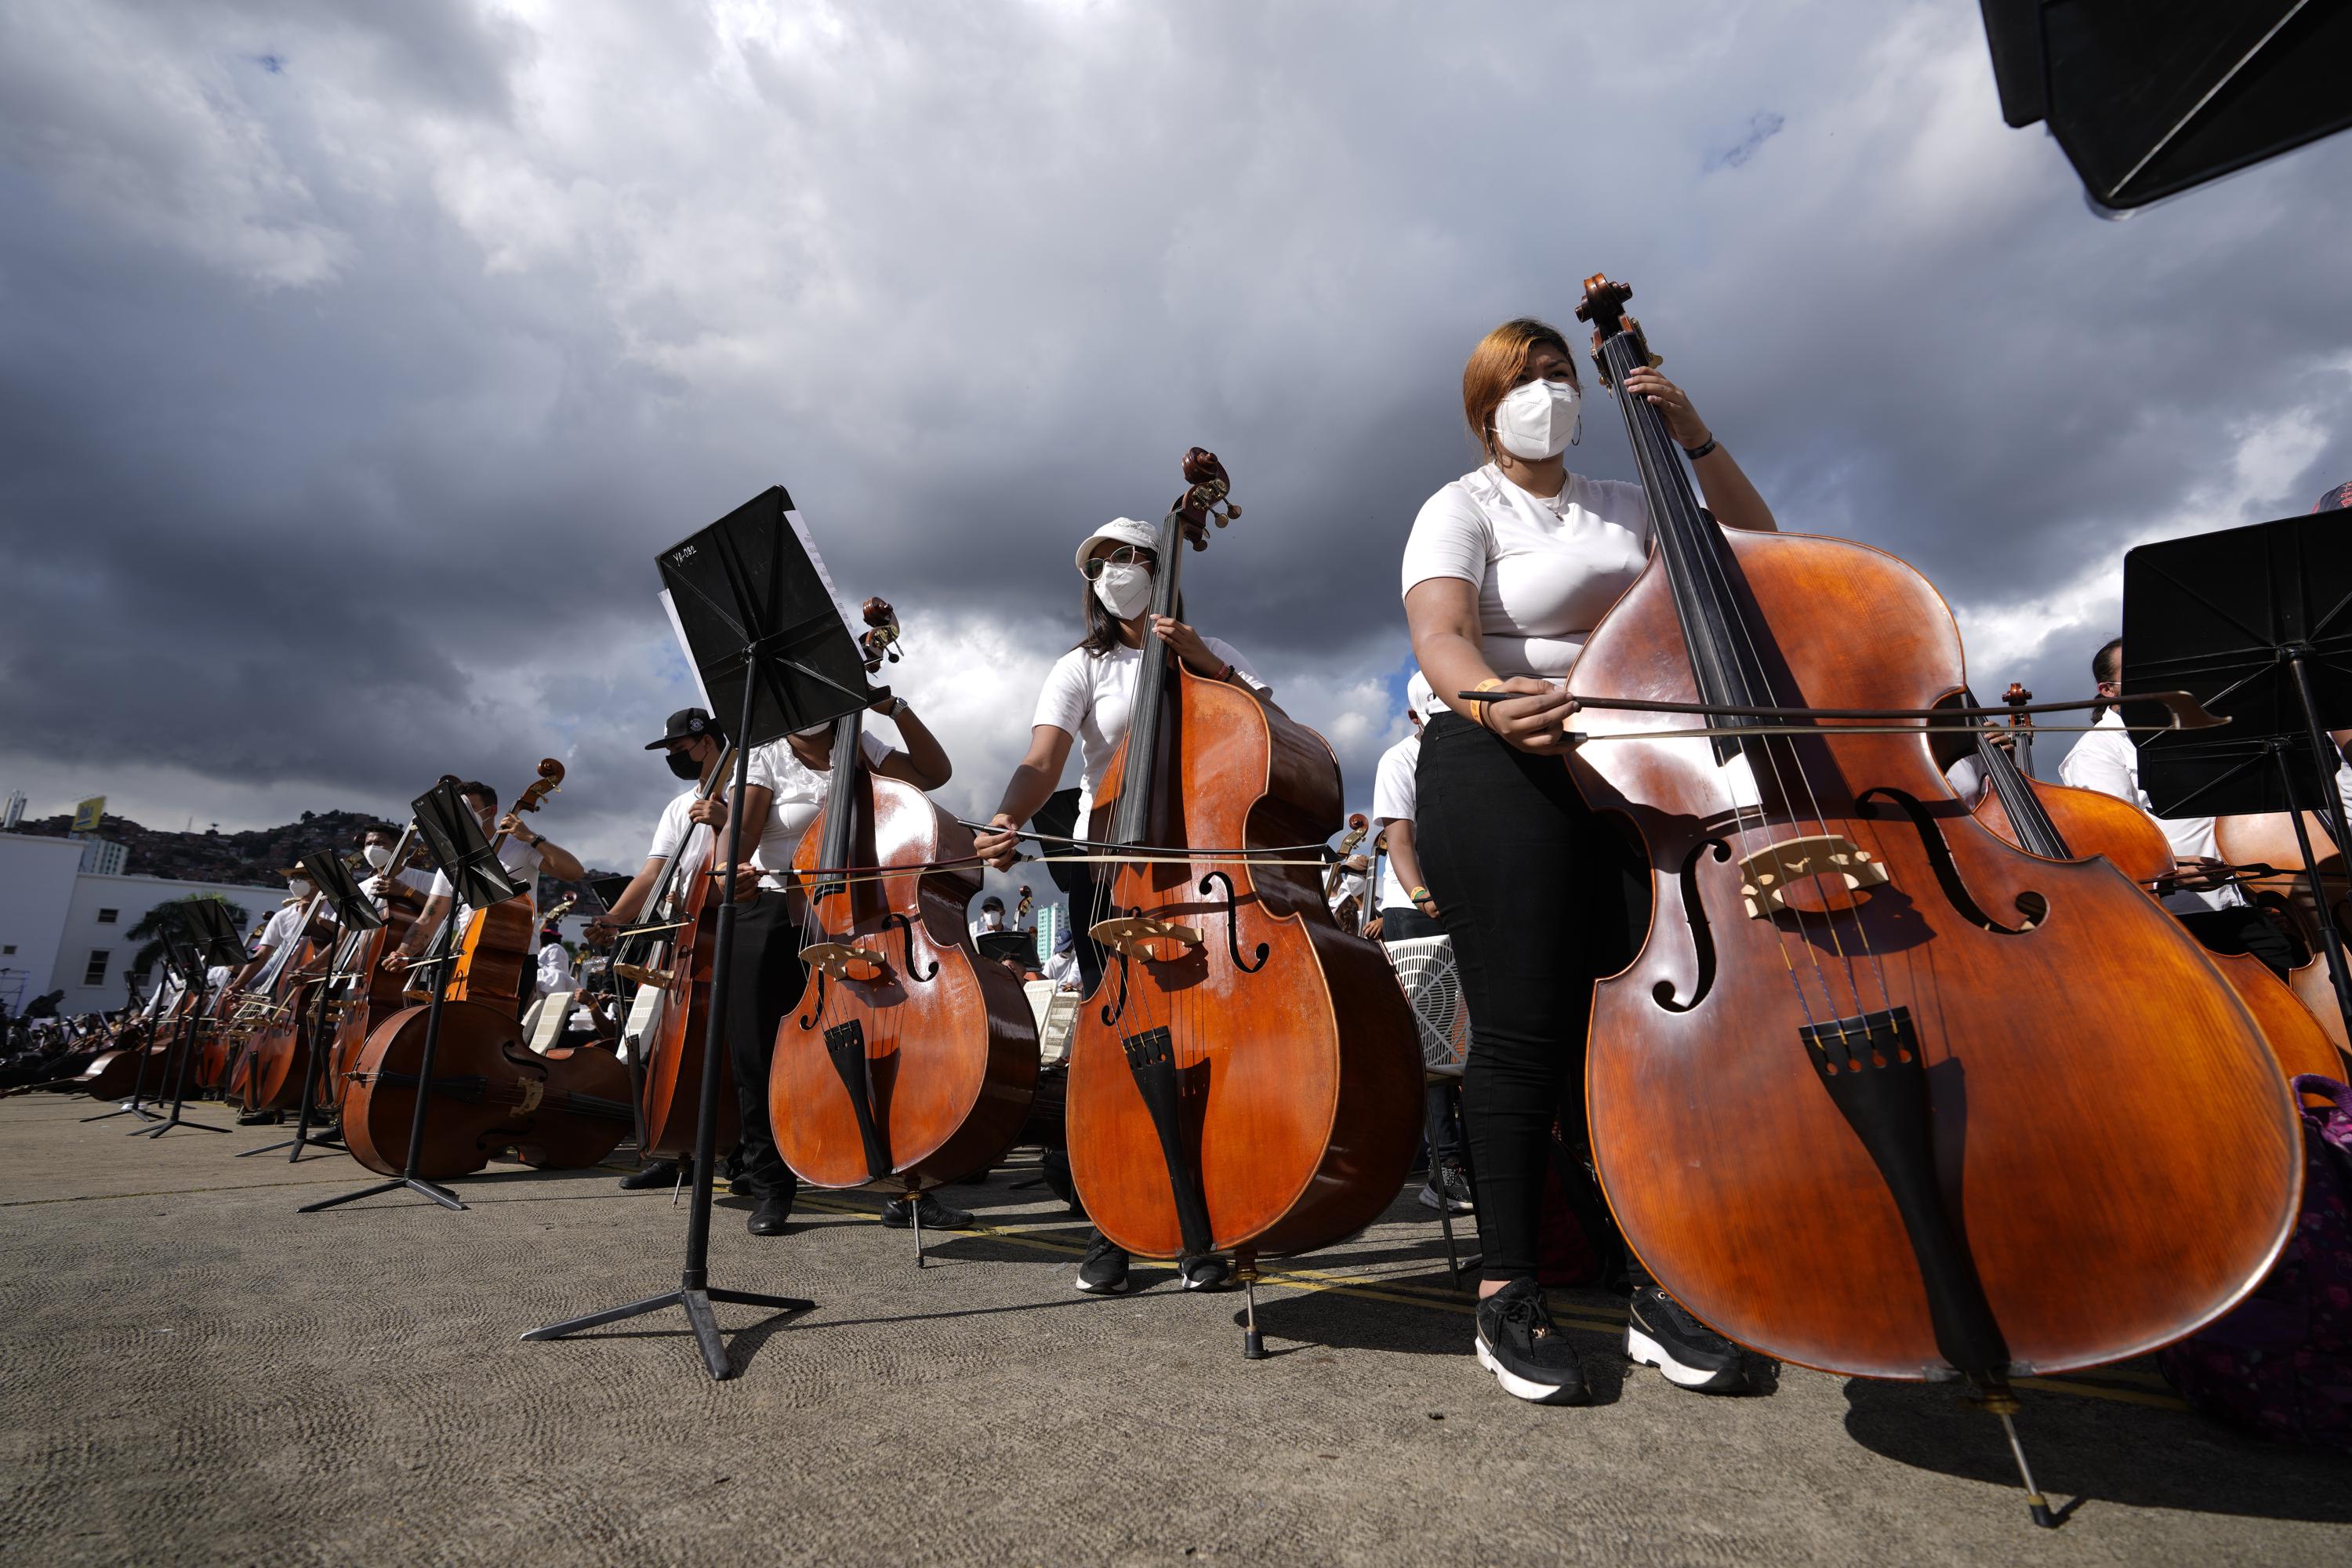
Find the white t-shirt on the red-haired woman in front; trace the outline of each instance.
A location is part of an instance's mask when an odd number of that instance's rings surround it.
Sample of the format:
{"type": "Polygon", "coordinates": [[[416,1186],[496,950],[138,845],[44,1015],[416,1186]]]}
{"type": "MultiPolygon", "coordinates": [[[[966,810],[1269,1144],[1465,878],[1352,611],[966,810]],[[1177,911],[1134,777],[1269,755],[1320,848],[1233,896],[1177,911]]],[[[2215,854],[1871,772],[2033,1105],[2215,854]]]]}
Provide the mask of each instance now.
{"type": "Polygon", "coordinates": [[[1559,679],[1646,559],[1639,484],[1571,473],[1543,498],[1486,463],[1421,505],[1404,541],[1404,592],[1444,576],[1477,583],[1494,672],[1559,679]]]}

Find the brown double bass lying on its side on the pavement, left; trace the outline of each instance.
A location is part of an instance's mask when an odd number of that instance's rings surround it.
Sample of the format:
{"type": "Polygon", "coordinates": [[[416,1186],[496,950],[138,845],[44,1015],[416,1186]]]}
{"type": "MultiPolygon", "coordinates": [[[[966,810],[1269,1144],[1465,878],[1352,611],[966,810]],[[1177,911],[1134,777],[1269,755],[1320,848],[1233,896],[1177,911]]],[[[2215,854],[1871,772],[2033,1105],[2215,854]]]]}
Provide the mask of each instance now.
{"type": "MultiPolygon", "coordinates": [[[[343,1145],[379,1175],[400,1175],[407,1164],[430,1011],[412,1006],[386,1018],[336,1100],[343,1145]]],[[[416,1159],[416,1173],[433,1180],[480,1171],[503,1150],[527,1166],[576,1171],[612,1154],[635,1124],[628,1067],[616,1056],[539,1056],[515,1018],[482,1001],[442,1004],[433,1091],[416,1159]]]]}

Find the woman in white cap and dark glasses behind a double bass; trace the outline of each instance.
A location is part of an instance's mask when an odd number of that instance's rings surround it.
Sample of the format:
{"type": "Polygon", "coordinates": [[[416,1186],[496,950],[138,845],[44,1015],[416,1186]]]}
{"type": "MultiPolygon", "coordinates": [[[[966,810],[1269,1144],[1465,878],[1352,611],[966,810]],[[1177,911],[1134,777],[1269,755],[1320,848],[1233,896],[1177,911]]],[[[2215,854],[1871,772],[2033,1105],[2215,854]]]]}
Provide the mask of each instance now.
{"type": "MultiPolygon", "coordinates": [[[[997,813],[990,818],[997,832],[983,832],[974,839],[974,849],[988,865],[1011,867],[1018,844],[1016,830],[1061,785],[1073,743],[1080,748],[1077,823],[1084,832],[1094,813],[1094,788],[1120,743],[1127,741],[1136,675],[1143,668],[1145,628],[1157,628],[1160,639],[1195,675],[1235,682],[1261,696],[1272,693],[1272,686],[1256,677],[1232,644],[1202,637],[1174,616],[1155,618],[1150,614],[1157,567],[1160,534],[1148,522],[1115,517],[1080,541],[1077,571],[1087,578],[1087,632],[1047,670],[1044,689],[1037,693],[1037,712],[1030,719],[1028,755],[1007,780],[997,813]]],[[[1103,947],[1089,936],[1101,919],[1101,891],[1103,884],[1094,884],[1096,903],[1070,910],[1080,990],[1084,992],[1091,992],[1103,978],[1103,947]]],[[[1221,1258],[1185,1258],[1178,1272],[1188,1291],[1211,1291],[1228,1276],[1221,1258]]],[[[1122,1295],[1127,1291],[1127,1253],[1101,1232],[1094,1234],[1087,1258],[1080,1262],[1077,1288],[1089,1295],[1122,1295]]]]}

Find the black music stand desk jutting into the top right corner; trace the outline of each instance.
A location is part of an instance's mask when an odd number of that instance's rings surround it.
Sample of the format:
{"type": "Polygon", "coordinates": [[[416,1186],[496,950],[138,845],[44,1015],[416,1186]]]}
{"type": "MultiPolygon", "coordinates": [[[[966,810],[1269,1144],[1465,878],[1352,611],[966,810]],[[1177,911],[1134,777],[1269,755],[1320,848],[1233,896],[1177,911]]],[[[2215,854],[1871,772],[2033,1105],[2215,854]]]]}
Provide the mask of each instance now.
{"type": "Polygon", "coordinates": [[[1978,0],[2009,125],[2129,212],[2352,125],[2347,0],[1978,0]]]}

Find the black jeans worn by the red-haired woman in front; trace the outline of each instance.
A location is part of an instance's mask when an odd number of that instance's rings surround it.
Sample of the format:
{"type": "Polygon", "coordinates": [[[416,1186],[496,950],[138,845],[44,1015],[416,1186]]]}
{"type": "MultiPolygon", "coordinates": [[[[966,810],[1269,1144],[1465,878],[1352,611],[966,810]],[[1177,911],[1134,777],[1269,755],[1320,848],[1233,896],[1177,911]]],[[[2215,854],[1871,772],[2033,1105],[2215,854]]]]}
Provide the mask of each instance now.
{"type": "Polygon", "coordinates": [[[1632,950],[1639,867],[1557,757],[1529,757],[1458,715],[1423,729],[1416,788],[1414,846],[1470,1004],[1463,1121],[1484,1276],[1536,1274],[1555,1119],[1569,1204],[1613,1274],[1621,1241],[1588,1166],[1585,1025],[1592,978],[1632,950]]]}

